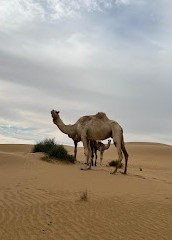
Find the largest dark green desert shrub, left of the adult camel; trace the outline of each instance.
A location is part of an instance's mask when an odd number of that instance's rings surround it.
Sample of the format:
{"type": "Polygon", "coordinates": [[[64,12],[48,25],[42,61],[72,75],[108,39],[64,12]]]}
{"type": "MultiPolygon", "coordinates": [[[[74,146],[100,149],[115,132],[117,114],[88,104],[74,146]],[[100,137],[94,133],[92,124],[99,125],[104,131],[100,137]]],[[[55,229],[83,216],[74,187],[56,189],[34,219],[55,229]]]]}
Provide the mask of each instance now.
{"type": "Polygon", "coordinates": [[[71,163],[75,162],[75,158],[68,154],[63,145],[57,145],[54,139],[45,139],[44,141],[37,143],[33,147],[33,152],[44,152],[50,159],[53,158],[71,163]]]}

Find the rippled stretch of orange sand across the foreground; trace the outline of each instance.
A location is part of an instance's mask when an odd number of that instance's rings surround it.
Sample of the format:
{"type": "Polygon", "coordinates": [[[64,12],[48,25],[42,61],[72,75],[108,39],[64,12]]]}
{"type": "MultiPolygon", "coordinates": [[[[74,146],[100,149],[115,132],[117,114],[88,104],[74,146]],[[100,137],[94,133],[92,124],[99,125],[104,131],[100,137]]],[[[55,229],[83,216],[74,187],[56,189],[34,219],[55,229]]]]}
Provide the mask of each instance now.
{"type": "MultiPolygon", "coordinates": [[[[91,193],[90,193],[91,194],[91,193]]],[[[138,199],[77,200],[77,193],[4,191],[0,239],[170,239],[170,203],[138,199]]]]}

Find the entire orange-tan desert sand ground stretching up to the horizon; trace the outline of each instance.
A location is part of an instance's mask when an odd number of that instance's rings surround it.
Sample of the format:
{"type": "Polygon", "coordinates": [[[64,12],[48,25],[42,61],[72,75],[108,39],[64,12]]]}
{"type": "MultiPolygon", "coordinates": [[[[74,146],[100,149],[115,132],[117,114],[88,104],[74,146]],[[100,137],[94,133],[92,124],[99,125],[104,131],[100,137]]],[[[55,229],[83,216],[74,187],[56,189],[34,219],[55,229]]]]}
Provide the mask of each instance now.
{"type": "Polygon", "coordinates": [[[172,239],[172,146],[126,147],[125,176],[106,167],[113,146],[103,167],[81,171],[82,148],[80,163],[66,165],[40,160],[30,145],[0,145],[0,239],[172,239]]]}

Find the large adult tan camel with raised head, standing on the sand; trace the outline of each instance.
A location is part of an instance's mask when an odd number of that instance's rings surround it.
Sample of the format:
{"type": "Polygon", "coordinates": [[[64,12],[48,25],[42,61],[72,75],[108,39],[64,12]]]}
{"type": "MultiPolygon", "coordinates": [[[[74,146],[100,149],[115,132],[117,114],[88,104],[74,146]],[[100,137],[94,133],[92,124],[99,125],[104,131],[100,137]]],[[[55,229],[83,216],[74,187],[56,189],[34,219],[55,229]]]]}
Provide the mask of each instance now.
{"type": "Polygon", "coordinates": [[[123,159],[122,152],[125,156],[124,174],[127,173],[128,153],[124,144],[123,129],[113,120],[110,120],[105,113],[98,112],[95,115],[83,116],[78,119],[75,124],[65,125],[59,116],[59,111],[52,110],[51,115],[53,122],[64,134],[67,134],[73,139],[75,144],[74,156],[76,157],[77,143],[82,141],[84,146],[84,154],[86,162],[91,169],[91,148],[90,141],[105,140],[113,138],[114,145],[118,152],[118,164],[112,174],[117,172],[120,163],[123,159]]]}

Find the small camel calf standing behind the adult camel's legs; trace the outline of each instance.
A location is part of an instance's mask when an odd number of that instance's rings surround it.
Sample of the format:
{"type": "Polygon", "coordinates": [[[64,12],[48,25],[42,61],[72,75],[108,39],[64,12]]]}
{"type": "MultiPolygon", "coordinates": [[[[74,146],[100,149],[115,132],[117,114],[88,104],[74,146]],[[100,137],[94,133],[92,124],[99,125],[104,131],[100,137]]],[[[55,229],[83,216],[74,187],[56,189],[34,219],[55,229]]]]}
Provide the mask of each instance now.
{"type": "Polygon", "coordinates": [[[90,141],[91,147],[91,164],[93,164],[94,153],[95,153],[95,166],[97,165],[97,150],[100,151],[100,165],[102,166],[103,153],[105,150],[110,148],[111,140],[108,140],[108,144],[103,144],[102,142],[90,141]]]}

